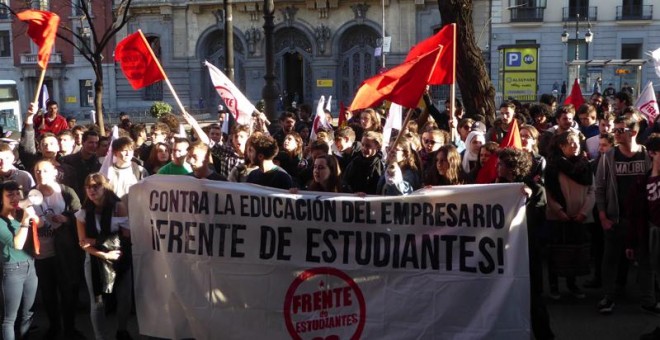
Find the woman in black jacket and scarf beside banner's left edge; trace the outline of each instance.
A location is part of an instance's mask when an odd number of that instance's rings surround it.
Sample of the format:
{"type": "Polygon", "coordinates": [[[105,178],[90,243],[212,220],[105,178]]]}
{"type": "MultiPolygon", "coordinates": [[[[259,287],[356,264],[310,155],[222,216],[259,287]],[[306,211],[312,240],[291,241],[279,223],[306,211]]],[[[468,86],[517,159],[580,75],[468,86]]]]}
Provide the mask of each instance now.
{"type": "Polygon", "coordinates": [[[78,239],[85,256],[85,281],[90,317],[97,340],[105,334],[103,295],[116,293],[117,339],[131,339],[126,331],[132,302],[132,271],[128,208],[100,173],[85,178],[86,200],[76,213],[78,239]]]}

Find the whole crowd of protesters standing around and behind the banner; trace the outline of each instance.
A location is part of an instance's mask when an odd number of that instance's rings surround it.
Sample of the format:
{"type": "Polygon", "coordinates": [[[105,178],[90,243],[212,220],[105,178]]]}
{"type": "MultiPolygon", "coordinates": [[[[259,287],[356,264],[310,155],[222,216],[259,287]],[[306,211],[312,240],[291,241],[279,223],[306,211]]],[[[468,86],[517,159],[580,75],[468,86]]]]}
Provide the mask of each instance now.
{"type": "Polygon", "coordinates": [[[114,332],[117,339],[131,338],[127,195],[133,184],[155,174],[360,196],[521,182],[537,339],[554,338],[542,297],[545,280],[547,298],[556,300],[582,299],[583,288],[602,288],[597,308],[609,314],[627,284],[629,260],[638,263],[642,308],[660,315],[654,295],[660,262],[660,122],[646,121],[630,94],[595,93],[577,108],[558,106],[552,95],[524,105],[509,100],[492,124],[465,112],[460,101],[453,112],[449,101],[442,111],[428,94],[424,102],[389,141],[383,140],[387,117],[380,108],[340,112],[344,123],[313,131],[314,138],[309,138],[312,110],[305,104],[283,112],[271,130],[259,114],[248,125],[230,119],[204,128],[187,114],[183,121],[168,115],[150,129],[124,115],[111,138],[93,125],[67,124],[54,101],[43,114],[31,107],[20,141],[0,144],[3,338],[28,332],[37,285],[50,323],[47,338],[85,338],[75,327],[83,283],[94,337],[114,332]],[[183,122],[191,131],[181,132],[183,122]],[[501,146],[514,132],[520,148],[501,146]],[[490,159],[497,159],[494,166],[490,159]],[[30,189],[39,190],[43,202],[19,209],[30,189]],[[28,237],[31,223],[38,225],[39,254],[28,237]],[[579,281],[586,272],[567,273],[553,263],[544,280],[544,261],[550,261],[546,246],[583,244],[591,251],[571,261],[593,269],[589,280],[579,281]],[[105,320],[109,293],[116,297],[114,327],[105,320]]]}

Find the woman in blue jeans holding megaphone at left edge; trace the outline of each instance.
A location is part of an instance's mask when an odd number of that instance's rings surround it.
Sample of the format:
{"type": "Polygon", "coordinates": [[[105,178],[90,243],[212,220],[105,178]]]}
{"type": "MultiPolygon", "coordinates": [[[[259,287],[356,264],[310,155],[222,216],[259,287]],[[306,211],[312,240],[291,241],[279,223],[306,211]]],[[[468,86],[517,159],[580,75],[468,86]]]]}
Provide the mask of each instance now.
{"type": "MultiPolygon", "coordinates": [[[[4,315],[2,337],[4,340],[23,338],[32,323],[32,304],[37,294],[37,273],[34,258],[28,251],[30,229],[40,224],[33,202],[23,200],[21,186],[14,181],[0,184],[0,251],[4,263],[2,293],[4,315]],[[14,331],[14,324],[21,309],[21,321],[14,331]]],[[[37,203],[38,204],[38,203],[37,203]]]]}

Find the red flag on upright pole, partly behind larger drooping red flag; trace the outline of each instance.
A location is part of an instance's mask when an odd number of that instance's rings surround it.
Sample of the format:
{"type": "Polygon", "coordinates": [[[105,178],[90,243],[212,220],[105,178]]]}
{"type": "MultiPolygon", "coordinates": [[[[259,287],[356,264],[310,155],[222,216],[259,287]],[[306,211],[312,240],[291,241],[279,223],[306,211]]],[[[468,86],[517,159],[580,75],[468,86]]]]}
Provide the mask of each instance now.
{"type": "Polygon", "coordinates": [[[408,52],[406,62],[411,61],[416,57],[424,55],[433,51],[438,45],[442,45],[443,49],[440,52],[437,66],[429,80],[429,85],[453,84],[456,82],[454,67],[456,62],[454,60],[454,37],[456,35],[456,24],[449,24],[443,27],[434,36],[421,41],[413,46],[408,52]]]}

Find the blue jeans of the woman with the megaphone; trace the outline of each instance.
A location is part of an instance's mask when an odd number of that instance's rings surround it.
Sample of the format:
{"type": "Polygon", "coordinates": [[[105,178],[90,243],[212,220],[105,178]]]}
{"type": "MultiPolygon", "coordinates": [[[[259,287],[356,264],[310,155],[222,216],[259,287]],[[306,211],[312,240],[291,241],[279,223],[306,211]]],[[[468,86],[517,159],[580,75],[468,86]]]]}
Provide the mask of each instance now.
{"type": "Polygon", "coordinates": [[[37,272],[34,260],[5,263],[2,270],[2,294],[5,315],[2,319],[2,337],[4,340],[14,340],[14,324],[18,309],[23,305],[21,324],[18,328],[18,338],[23,338],[32,323],[32,304],[37,295],[37,272]]]}

